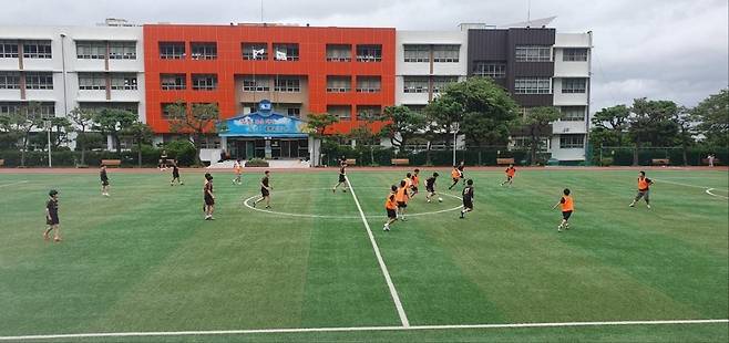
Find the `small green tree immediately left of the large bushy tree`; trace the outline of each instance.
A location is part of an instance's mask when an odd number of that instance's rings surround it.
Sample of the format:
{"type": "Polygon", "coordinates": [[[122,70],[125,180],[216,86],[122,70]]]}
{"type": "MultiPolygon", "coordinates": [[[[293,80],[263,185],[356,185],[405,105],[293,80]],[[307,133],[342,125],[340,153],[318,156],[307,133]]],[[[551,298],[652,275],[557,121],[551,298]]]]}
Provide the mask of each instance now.
{"type": "Polygon", "coordinates": [[[382,135],[390,138],[390,144],[397,149],[403,149],[408,141],[412,139],[425,128],[425,115],[412,111],[404,105],[384,107],[382,121],[382,135]]]}

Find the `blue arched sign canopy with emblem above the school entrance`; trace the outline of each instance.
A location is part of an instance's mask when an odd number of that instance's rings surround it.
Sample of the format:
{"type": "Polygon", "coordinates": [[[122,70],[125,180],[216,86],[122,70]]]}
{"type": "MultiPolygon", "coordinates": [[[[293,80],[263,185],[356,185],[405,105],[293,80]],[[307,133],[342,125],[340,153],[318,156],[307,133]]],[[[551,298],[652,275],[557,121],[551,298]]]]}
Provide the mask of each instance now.
{"type": "Polygon", "coordinates": [[[288,137],[306,138],[306,122],[274,113],[271,103],[267,100],[258,103],[258,111],[236,115],[225,121],[220,137],[288,137]]]}

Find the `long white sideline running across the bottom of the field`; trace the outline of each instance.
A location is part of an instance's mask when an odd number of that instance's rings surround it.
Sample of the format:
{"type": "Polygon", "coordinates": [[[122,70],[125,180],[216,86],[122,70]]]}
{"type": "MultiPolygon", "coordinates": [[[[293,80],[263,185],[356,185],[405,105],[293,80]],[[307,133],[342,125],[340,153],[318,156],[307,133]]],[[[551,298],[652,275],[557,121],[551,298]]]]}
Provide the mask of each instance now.
{"type": "Polygon", "coordinates": [[[353,326],[353,328],[304,328],[304,329],[250,329],[215,331],[148,331],[148,332],[101,332],[0,336],[0,341],[23,340],[63,340],[88,337],[132,337],[132,336],[189,336],[256,333],[307,333],[307,332],[357,332],[357,331],[408,331],[408,330],[458,330],[458,329],[517,329],[517,328],[575,328],[575,326],[617,326],[617,325],[690,325],[723,324],[729,319],[706,320],[654,320],[654,321],[614,321],[614,322],[563,322],[563,323],[515,323],[515,324],[464,324],[464,325],[413,325],[413,326],[353,326]]]}

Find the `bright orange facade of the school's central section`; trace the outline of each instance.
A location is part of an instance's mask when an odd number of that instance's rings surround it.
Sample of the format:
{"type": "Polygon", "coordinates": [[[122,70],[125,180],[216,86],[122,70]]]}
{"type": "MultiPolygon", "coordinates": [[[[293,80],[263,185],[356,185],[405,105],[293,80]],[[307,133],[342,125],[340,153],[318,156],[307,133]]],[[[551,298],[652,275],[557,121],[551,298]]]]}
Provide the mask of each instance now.
{"type": "MultiPolygon", "coordinates": [[[[220,118],[239,114],[239,93],[236,79],[242,75],[298,75],[308,83],[308,112],[324,113],[328,106],[350,106],[351,119],[332,125],[331,132],[345,133],[362,125],[357,118],[357,106],[394,104],[394,29],[373,28],[314,28],[292,25],[144,25],[144,67],[146,92],[146,119],[155,133],[168,133],[162,115],[162,104],[182,100],[192,103],[217,103],[220,118]],[[160,43],[184,43],[186,55],[178,60],[161,59],[160,43]],[[217,56],[212,60],[191,58],[192,43],[215,43],[217,56]],[[267,51],[273,44],[298,44],[298,61],[277,61],[269,53],[267,60],[244,60],[244,43],[265,43],[267,51]],[[327,61],[327,45],[350,45],[351,61],[327,61]],[[358,62],[357,45],[381,45],[381,61],[358,62]],[[184,74],[185,90],[163,90],[162,74],[184,74]],[[193,74],[217,75],[215,90],[193,90],[193,74]],[[351,77],[351,90],[343,93],[327,92],[327,76],[351,77]],[[379,76],[379,92],[356,92],[357,77],[379,76]]],[[[260,100],[260,98],[259,98],[260,100]]],[[[381,123],[377,123],[379,129],[381,123]]]]}

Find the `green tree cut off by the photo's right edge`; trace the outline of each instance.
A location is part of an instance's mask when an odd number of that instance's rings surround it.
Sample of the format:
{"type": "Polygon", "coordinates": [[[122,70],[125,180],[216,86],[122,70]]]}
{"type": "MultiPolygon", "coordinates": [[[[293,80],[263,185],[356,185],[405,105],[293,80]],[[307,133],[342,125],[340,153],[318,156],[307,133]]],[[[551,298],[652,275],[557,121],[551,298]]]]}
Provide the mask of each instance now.
{"type": "Polygon", "coordinates": [[[699,121],[698,132],[715,147],[729,146],[729,89],[701,101],[691,113],[699,121]]]}

